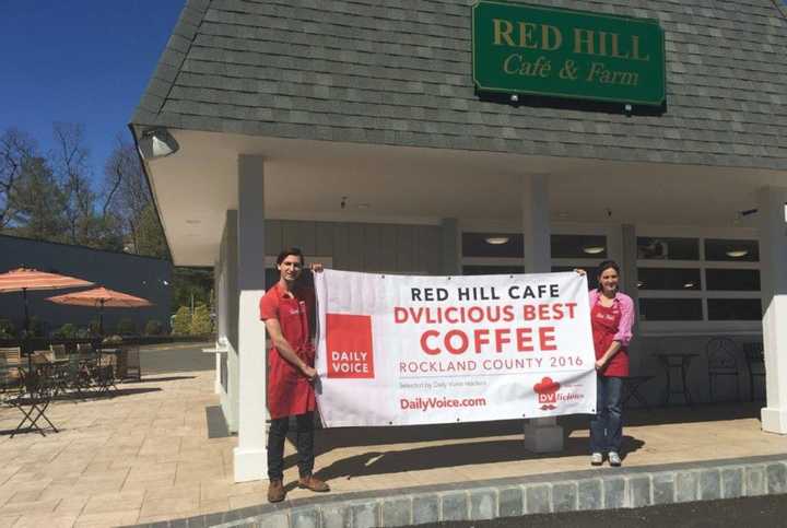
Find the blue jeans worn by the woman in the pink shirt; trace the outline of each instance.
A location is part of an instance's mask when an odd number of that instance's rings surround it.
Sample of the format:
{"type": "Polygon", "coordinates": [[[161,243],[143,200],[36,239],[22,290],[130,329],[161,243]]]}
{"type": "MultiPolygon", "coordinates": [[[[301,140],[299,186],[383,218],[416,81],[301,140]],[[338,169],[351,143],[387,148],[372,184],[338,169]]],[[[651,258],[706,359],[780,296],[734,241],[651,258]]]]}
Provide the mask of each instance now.
{"type": "Polygon", "coordinates": [[[596,376],[596,415],[590,420],[590,453],[620,453],[623,442],[623,379],[596,376]]]}

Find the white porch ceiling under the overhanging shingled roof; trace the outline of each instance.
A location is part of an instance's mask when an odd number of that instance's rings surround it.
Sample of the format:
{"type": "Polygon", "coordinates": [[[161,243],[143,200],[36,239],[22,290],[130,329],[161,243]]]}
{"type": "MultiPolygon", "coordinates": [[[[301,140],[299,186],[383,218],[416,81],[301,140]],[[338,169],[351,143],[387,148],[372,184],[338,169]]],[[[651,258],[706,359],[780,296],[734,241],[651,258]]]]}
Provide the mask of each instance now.
{"type": "Polygon", "coordinates": [[[516,222],[521,176],[548,174],[555,221],[724,227],[755,207],[756,188],[787,183],[762,169],[172,132],[180,150],[148,173],[178,266],[213,265],[240,153],[266,157],[266,215],[277,219],[516,222]]]}

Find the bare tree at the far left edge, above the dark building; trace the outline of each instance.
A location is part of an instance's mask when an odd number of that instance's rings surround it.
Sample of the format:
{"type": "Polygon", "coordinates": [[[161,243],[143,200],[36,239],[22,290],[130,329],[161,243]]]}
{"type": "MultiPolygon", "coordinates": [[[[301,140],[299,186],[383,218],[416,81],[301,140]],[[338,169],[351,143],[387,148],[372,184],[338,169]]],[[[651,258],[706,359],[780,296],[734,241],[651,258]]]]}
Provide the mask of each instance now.
{"type": "Polygon", "coordinates": [[[35,143],[25,132],[10,128],[0,136],[0,230],[17,220],[14,195],[22,179],[22,167],[34,154],[35,143]]]}

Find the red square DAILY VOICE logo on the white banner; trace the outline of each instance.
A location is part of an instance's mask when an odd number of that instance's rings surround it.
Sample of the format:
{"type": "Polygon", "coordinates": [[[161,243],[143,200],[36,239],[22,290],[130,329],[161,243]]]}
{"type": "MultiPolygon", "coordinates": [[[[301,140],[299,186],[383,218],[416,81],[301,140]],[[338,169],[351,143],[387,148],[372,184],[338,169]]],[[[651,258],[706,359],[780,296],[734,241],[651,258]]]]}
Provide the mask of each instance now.
{"type": "Polygon", "coordinates": [[[326,314],[329,378],[374,378],[372,316],[326,314]]]}

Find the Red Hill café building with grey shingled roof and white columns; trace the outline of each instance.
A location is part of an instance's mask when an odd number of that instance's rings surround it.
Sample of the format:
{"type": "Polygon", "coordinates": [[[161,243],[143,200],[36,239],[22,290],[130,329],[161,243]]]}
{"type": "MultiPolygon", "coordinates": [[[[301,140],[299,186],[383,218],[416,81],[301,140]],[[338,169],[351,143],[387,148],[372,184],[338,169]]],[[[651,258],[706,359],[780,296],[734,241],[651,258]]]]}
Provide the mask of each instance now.
{"type": "MultiPolygon", "coordinates": [[[[532,0],[532,19],[484,19],[494,33],[474,50],[472,5],[190,0],[183,11],[131,130],[175,263],[215,265],[236,479],[265,477],[257,301],[261,262],[290,245],[339,269],[412,273],[618,259],[639,310],[635,371],[659,373],[656,352],[696,352],[690,383],[707,399],[708,338],[759,341],[764,329],[763,429],[787,433],[784,8],[532,0]],[[578,11],[533,15],[563,7],[578,11]],[[647,50],[637,27],[656,32],[647,50]],[[501,50],[510,84],[490,90],[474,60],[501,50]],[[521,87],[556,79],[566,57],[590,61],[585,91],[521,87]],[[647,93],[630,90],[638,75],[647,93]],[[173,138],[179,150],[156,157],[173,138]]],[[[556,431],[544,421],[526,437],[556,431]]]]}

